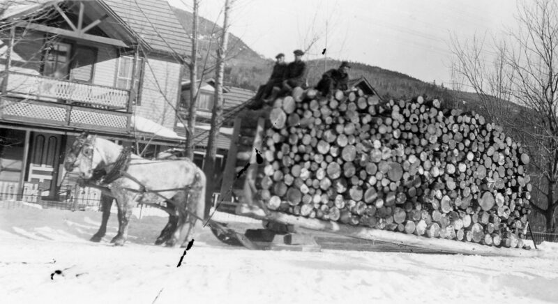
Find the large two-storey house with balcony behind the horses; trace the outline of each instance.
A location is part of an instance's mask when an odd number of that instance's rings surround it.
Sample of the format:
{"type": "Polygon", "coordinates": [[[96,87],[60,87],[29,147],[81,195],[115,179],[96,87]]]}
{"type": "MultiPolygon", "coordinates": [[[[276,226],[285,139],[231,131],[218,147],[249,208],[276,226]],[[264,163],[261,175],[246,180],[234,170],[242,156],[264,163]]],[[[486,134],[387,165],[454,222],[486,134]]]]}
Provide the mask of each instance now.
{"type": "Polygon", "coordinates": [[[190,43],[167,1],[8,1],[0,24],[0,192],[68,199],[63,157],[83,130],[139,151],[183,140],[190,43]]]}

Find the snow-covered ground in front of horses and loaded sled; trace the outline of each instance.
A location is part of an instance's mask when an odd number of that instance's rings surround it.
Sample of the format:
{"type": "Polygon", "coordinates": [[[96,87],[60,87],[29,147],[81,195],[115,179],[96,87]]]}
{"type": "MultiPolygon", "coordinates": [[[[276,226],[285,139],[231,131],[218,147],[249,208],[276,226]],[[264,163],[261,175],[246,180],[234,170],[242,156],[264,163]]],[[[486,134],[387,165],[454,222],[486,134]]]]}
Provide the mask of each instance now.
{"type": "Polygon", "coordinates": [[[183,249],[152,245],[165,222],[134,218],[113,247],[114,215],[91,243],[100,213],[0,208],[0,303],[558,303],[556,244],[541,258],[250,251],[207,229],[177,268],[183,249]]]}

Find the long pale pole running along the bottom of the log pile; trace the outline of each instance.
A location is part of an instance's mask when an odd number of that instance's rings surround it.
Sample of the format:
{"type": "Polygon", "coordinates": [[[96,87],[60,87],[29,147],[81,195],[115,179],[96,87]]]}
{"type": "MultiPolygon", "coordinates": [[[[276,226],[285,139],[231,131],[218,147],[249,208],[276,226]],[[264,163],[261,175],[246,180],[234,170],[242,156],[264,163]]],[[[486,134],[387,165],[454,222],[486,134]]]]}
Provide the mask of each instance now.
{"type": "Polygon", "coordinates": [[[372,229],[368,227],[353,227],[338,222],[317,220],[315,218],[301,218],[285,213],[269,211],[268,215],[263,210],[255,211],[253,208],[237,208],[237,215],[262,220],[274,220],[287,225],[295,225],[306,229],[326,231],[352,238],[361,238],[370,241],[428,248],[440,252],[451,252],[459,254],[474,254],[483,256],[506,256],[506,257],[541,257],[541,250],[524,250],[518,248],[496,248],[488,245],[480,245],[471,242],[451,241],[443,238],[426,238],[414,234],[403,234],[399,232],[372,229]]]}

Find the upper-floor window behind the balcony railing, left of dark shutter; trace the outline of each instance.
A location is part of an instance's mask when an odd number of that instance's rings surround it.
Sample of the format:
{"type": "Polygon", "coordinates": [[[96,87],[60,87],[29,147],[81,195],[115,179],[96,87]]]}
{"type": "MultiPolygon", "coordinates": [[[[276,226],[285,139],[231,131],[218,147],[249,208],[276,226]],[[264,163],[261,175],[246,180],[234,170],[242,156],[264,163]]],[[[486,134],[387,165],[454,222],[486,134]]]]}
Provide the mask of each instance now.
{"type": "Polygon", "coordinates": [[[45,46],[43,75],[57,79],[68,77],[71,45],[50,43],[45,46]]]}

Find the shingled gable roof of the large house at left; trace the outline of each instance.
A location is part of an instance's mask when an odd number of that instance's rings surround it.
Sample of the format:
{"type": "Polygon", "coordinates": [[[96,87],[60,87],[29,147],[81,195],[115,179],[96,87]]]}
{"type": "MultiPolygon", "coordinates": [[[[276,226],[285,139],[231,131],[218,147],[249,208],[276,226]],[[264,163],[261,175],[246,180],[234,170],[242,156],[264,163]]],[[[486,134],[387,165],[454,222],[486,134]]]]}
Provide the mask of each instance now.
{"type": "MultiPolygon", "coordinates": [[[[0,20],[38,13],[61,0],[0,0],[0,20]]],[[[70,1],[71,2],[71,1],[70,1]]],[[[165,0],[89,0],[98,3],[156,52],[190,54],[190,40],[165,0]]],[[[86,12],[87,13],[87,12],[86,12]]]]}

